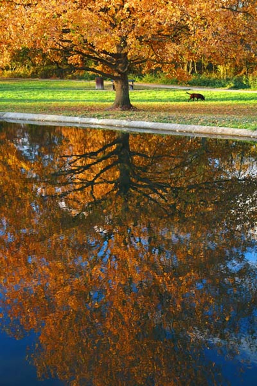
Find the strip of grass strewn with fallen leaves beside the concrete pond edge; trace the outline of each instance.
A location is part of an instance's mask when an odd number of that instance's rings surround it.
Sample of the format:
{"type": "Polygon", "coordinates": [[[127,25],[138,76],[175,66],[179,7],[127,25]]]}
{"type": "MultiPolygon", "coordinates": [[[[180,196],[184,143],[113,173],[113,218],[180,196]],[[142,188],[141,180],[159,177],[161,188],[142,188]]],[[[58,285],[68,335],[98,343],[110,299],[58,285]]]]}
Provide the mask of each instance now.
{"type": "Polygon", "coordinates": [[[128,111],[107,110],[109,106],[111,103],[0,103],[0,111],[257,129],[254,104],[135,103],[137,109],[128,111]]]}

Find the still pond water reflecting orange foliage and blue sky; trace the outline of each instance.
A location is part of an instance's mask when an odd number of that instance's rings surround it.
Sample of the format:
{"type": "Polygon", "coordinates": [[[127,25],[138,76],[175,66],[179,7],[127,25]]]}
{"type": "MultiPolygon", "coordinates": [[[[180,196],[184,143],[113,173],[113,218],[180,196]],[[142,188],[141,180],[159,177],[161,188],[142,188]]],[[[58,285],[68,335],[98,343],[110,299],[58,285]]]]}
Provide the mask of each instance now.
{"type": "Polygon", "coordinates": [[[0,384],[253,385],[254,142],[0,122],[0,384]]]}

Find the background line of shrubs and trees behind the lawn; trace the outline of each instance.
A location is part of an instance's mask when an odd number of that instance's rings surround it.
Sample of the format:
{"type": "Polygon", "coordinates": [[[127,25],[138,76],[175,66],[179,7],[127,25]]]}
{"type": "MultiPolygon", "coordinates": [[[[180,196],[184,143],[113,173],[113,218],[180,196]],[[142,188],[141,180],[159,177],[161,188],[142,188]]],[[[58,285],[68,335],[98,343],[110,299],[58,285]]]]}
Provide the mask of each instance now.
{"type": "MultiPolygon", "coordinates": [[[[161,68],[149,70],[144,74],[142,70],[131,73],[137,81],[157,84],[187,84],[191,86],[257,88],[257,71],[252,61],[235,66],[232,63],[213,64],[201,58],[199,61],[177,63],[187,74],[186,80],[163,74],[161,68]]],[[[0,69],[2,78],[42,78],[42,79],[80,79],[94,80],[96,75],[89,71],[72,70],[62,63],[55,63],[40,49],[27,47],[16,51],[10,63],[0,69]]]]}

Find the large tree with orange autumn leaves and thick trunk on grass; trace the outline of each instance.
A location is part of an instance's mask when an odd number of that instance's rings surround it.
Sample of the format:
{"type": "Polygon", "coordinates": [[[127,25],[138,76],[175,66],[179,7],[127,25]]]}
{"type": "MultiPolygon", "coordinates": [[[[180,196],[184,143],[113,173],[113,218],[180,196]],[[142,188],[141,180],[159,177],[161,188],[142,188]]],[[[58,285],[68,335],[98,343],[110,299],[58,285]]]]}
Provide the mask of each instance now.
{"type": "MultiPolygon", "coordinates": [[[[254,58],[256,1],[3,0],[2,58],[42,48],[55,63],[114,81],[114,108],[131,108],[128,74],[156,66],[185,76],[179,63],[254,58]]],[[[2,59],[2,60],[3,60],[2,59]]]]}

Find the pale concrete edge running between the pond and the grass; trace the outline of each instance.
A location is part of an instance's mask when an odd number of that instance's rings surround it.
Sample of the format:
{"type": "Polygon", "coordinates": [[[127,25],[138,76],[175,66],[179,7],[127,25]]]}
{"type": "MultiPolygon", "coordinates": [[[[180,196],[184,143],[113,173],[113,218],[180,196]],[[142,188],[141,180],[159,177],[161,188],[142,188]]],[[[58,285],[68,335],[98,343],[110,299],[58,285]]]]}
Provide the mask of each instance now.
{"type": "Polygon", "coordinates": [[[0,120],[25,124],[97,127],[102,129],[113,129],[132,132],[152,132],[157,134],[159,133],[202,137],[220,137],[257,141],[257,129],[251,131],[247,129],[234,129],[232,127],[185,125],[118,119],[97,119],[72,117],[66,115],[29,114],[13,112],[0,112],[0,120]]]}

